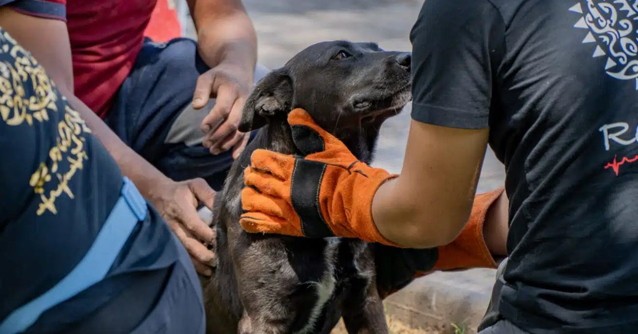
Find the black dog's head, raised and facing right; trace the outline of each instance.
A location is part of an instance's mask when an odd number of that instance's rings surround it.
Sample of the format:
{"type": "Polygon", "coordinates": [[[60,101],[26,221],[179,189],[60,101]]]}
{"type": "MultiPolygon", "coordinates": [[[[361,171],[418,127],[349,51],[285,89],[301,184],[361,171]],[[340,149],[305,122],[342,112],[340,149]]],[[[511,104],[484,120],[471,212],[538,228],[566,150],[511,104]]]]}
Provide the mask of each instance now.
{"type": "Polygon", "coordinates": [[[369,162],[381,124],[412,97],[410,60],[408,52],[387,52],[375,43],[311,45],[257,84],[239,130],[286,126],[288,112],[302,108],[369,162]]]}

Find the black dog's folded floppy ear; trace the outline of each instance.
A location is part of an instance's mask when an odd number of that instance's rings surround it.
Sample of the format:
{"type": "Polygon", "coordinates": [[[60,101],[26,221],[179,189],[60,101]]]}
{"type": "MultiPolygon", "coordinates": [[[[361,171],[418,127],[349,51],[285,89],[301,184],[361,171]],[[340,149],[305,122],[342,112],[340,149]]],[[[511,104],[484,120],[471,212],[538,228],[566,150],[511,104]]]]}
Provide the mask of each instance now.
{"type": "Polygon", "coordinates": [[[267,118],[279,112],[288,113],[292,105],[292,82],[285,70],[279,69],[266,75],[248,96],[239,131],[249,132],[268,123],[267,118]]]}

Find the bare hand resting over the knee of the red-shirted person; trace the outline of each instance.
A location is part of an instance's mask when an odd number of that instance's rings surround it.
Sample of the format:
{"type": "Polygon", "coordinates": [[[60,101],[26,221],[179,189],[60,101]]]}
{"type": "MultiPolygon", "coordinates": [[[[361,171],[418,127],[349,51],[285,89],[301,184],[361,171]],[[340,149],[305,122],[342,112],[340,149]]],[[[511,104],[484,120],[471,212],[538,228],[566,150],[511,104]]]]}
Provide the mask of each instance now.
{"type": "Polygon", "coordinates": [[[204,147],[211,154],[233,150],[233,158],[246,148],[248,135],[237,131],[242,109],[253,84],[253,70],[230,63],[220,63],[198,77],[193,95],[193,108],[202,109],[209,98],[215,106],[202,120],[204,147]]]}

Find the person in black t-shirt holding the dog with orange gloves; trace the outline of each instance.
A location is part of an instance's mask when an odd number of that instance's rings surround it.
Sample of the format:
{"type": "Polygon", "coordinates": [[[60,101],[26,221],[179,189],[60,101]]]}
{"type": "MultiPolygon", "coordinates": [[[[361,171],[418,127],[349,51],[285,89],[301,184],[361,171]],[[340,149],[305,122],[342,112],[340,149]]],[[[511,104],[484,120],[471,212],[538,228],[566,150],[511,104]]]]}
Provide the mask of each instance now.
{"type": "MultiPolygon", "coordinates": [[[[508,262],[482,333],[633,333],[637,17],[638,4],[622,0],[427,0],[410,35],[412,124],[401,174],[334,169],[334,158],[352,155],[315,130],[322,154],[253,155],[242,226],[302,235],[304,225],[327,224],[389,245],[443,245],[466,221],[489,143],[507,172],[510,202],[496,213],[508,220],[508,262]],[[295,159],[351,181],[318,188],[323,221],[263,204],[292,206],[299,194],[269,189],[292,181],[281,166],[295,159]]],[[[289,121],[315,126],[299,115],[289,121]]]]}

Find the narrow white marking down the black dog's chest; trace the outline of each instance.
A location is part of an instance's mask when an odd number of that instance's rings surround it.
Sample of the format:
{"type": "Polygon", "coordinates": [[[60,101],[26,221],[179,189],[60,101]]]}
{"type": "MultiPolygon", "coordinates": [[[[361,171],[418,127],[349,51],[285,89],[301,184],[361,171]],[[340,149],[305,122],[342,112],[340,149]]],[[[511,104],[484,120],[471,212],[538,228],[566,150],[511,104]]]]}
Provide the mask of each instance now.
{"type": "Polygon", "coordinates": [[[325,303],[330,300],[334,293],[334,287],[336,285],[336,279],[334,278],[334,263],[336,262],[337,250],[341,238],[326,238],[327,245],[323,250],[323,259],[325,261],[326,270],[323,272],[323,277],[319,282],[307,282],[316,286],[317,302],[313,307],[313,310],[308,317],[308,323],[301,330],[295,334],[309,333],[314,327],[317,318],[321,314],[325,303]]]}

